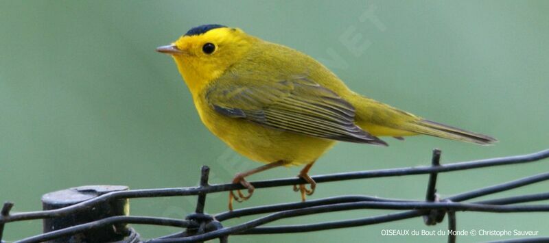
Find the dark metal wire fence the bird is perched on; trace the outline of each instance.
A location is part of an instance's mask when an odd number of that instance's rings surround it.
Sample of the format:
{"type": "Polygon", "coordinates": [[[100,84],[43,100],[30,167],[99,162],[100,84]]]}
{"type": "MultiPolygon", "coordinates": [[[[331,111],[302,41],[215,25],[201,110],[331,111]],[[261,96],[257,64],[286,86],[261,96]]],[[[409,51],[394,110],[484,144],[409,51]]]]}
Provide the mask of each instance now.
{"type": "MultiPolygon", "coordinates": [[[[348,195],[334,196],[325,199],[310,200],[297,203],[281,203],[274,205],[263,205],[259,207],[249,207],[244,209],[235,209],[230,212],[222,212],[220,214],[209,215],[204,213],[204,207],[207,199],[207,194],[214,192],[226,192],[229,190],[244,189],[240,184],[226,183],[210,185],[208,183],[209,168],[202,167],[200,186],[189,188],[163,188],[163,189],[146,189],[146,190],[120,190],[108,192],[93,199],[82,201],[67,207],[58,209],[23,212],[10,214],[10,209],[13,203],[6,202],[0,212],[0,240],[2,237],[5,224],[21,220],[36,220],[36,219],[55,219],[70,216],[73,214],[91,214],[93,209],[100,205],[113,201],[136,198],[149,198],[161,196],[198,196],[196,210],[194,214],[188,215],[185,219],[178,218],[160,218],[149,216],[108,216],[91,220],[90,222],[82,222],[76,225],[69,225],[62,229],[53,229],[45,233],[34,235],[29,238],[17,240],[16,242],[45,242],[56,240],[59,238],[76,235],[86,231],[104,229],[105,227],[113,228],[116,225],[123,225],[125,229],[124,240],[120,242],[203,242],[218,238],[220,242],[228,242],[229,235],[246,235],[246,234],[273,234],[273,233],[301,233],[309,231],[322,231],[327,229],[338,229],[345,227],[358,227],[364,225],[374,225],[383,222],[392,222],[396,220],[404,220],[406,218],[423,217],[426,225],[436,225],[442,222],[447,215],[448,218],[448,242],[456,242],[456,212],[493,212],[493,213],[511,213],[511,212],[549,212],[549,204],[524,205],[522,203],[530,203],[535,201],[544,201],[549,199],[549,192],[540,192],[537,194],[525,194],[521,196],[504,197],[500,199],[491,199],[484,201],[471,201],[480,196],[504,192],[522,186],[527,186],[533,183],[549,180],[549,172],[544,172],[539,175],[532,175],[500,183],[498,185],[463,192],[454,196],[441,199],[436,194],[436,177],[441,172],[451,172],[456,170],[470,170],[475,168],[484,168],[489,166],[504,166],[510,164],[522,164],[529,162],[537,162],[541,159],[549,157],[549,149],[539,151],[528,155],[517,155],[511,157],[499,157],[492,159],[482,159],[470,162],[458,162],[453,164],[440,164],[441,151],[434,149],[432,155],[432,164],[430,166],[418,166],[412,168],[393,168],[386,170],[366,170],[359,172],[344,172],[329,175],[318,175],[312,178],[317,183],[326,183],[331,181],[344,181],[351,179],[366,179],[374,177],[395,177],[406,175],[429,174],[429,182],[425,195],[425,201],[409,201],[400,199],[383,199],[373,196],[363,195],[348,195]],[[467,202],[465,202],[467,201],[467,202]],[[355,218],[349,220],[338,220],[330,222],[315,222],[306,225],[283,225],[283,226],[263,226],[269,222],[281,220],[283,218],[307,216],[312,214],[324,214],[329,212],[340,212],[354,209],[390,209],[399,212],[392,214],[370,216],[366,218],[355,218]],[[222,223],[233,218],[242,216],[263,215],[247,222],[243,222],[231,227],[224,227],[222,223]],[[160,238],[150,240],[140,240],[140,235],[127,224],[141,225],[163,225],[171,227],[180,227],[182,231],[172,235],[165,235],[160,238]]],[[[301,178],[285,178],[273,179],[266,181],[251,182],[255,188],[273,188],[280,186],[292,186],[295,184],[306,183],[301,178]]],[[[120,232],[119,232],[120,233],[120,232]]],[[[524,238],[509,240],[509,242],[549,242],[547,237],[524,238]]]]}

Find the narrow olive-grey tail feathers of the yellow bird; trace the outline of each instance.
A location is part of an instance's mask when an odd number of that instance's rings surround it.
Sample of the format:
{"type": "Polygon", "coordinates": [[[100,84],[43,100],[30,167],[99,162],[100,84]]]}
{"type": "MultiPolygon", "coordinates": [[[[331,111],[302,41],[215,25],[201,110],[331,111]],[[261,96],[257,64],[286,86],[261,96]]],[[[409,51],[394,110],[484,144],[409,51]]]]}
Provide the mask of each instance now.
{"type": "Polygon", "coordinates": [[[474,133],[471,131],[465,131],[457,127],[451,127],[425,119],[415,121],[410,130],[416,133],[435,136],[439,138],[447,138],[463,142],[472,142],[482,145],[489,145],[493,144],[494,142],[498,142],[497,139],[492,138],[491,136],[486,136],[484,134],[474,133]]]}

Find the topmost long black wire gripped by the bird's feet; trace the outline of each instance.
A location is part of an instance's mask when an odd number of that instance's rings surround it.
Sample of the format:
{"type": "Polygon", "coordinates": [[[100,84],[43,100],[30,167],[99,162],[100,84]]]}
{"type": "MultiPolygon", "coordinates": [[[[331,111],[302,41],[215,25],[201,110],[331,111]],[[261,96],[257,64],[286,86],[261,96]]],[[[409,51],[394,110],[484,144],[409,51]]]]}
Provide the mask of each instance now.
{"type": "MultiPolygon", "coordinates": [[[[344,181],[350,179],[365,179],[374,177],[394,177],[402,175],[419,175],[430,174],[432,172],[449,172],[456,170],[467,170],[471,168],[482,168],[487,166],[502,166],[509,164],[521,164],[527,162],[535,162],[539,159],[549,157],[549,149],[531,153],[528,155],[517,155],[511,157],[500,157],[491,159],[481,159],[471,162],[459,162],[442,166],[417,166],[411,168],[393,168],[387,170],[366,170],[359,172],[344,172],[330,175],[313,176],[312,179],[316,183],[329,181],[344,181]]],[[[250,182],[255,188],[272,188],[278,186],[292,186],[296,184],[307,183],[301,178],[285,178],[273,179],[268,181],[250,182]]],[[[114,199],[135,199],[144,197],[161,197],[161,196],[190,196],[198,194],[208,194],[212,192],[226,192],[230,190],[244,189],[240,183],[226,183],[212,186],[192,187],[192,188],[163,188],[163,189],[145,189],[145,190],[127,190],[118,192],[109,192],[94,199],[84,201],[68,207],[60,209],[52,209],[48,211],[26,212],[19,214],[11,214],[9,216],[0,216],[0,224],[5,222],[13,222],[19,220],[31,220],[39,218],[52,218],[72,214],[81,210],[89,209],[97,204],[114,199]]]]}

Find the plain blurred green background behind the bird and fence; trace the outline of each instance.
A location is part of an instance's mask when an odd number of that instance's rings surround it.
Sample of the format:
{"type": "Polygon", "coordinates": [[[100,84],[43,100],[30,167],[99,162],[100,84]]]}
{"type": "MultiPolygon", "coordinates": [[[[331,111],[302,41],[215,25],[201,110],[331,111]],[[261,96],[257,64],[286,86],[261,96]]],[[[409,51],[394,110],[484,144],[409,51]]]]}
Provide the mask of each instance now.
{"type": "MultiPolygon", "coordinates": [[[[40,196],[74,186],[194,186],[200,166],[213,183],[259,166],[227,149],[200,123],[172,59],[154,49],[206,23],[241,27],[325,63],[353,90],[423,117],[487,133],[495,146],[428,137],[387,138],[388,148],[340,143],[313,175],[427,165],[530,153],[549,147],[548,1],[1,1],[0,200],[38,210],[40,196]],[[364,14],[366,13],[366,14],[364,14]],[[348,40],[360,35],[358,44],[348,40]],[[359,46],[359,47],[355,47],[359,46]]],[[[449,196],[534,175],[548,162],[439,176],[449,196]]],[[[281,168],[250,177],[292,177],[281,168]]],[[[367,194],[423,199],[427,175],[320,184],[311,199],[367,194]]],[[[545,192],[548,184],[498,194],[545,192]]],[[[487,197],[493,198],[494,196],[487,197]]],[[[226,210],[227,194],[208,196],[226,210]]],[[[131,213],[182,218],[195,198],[135,199],[131,213]]],[[[236,207],[299,201],[291,188],[257,190],[236,207]]],[[[303,224],[386,214],[358,210],[281,220],[303,224]]],[[[547,214],[458,213],[458,229],[535,230],[547,214]]],[[[226,222],[234,225],[246,218],[226,222]]],[[[5,240],[39,233],[40,220],[6,227],[5,240]]],[[[420,218],[314,233],[231,237],[236,242],[441,242],[382,229],[426,227],[420,218]]],[[[135,226],[145,238],[177,231],[135,226]]],[[[500,240],[458,237],[460,242],[500,240]]]]}

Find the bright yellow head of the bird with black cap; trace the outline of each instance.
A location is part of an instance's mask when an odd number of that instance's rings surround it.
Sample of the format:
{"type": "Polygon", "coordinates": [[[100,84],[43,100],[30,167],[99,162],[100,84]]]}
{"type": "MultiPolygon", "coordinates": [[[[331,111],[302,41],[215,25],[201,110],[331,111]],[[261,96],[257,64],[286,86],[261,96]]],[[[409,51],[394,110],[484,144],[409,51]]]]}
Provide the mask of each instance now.
{"type": "Polygon", "coordinates": [[[156,51],[174,57],[183,79],[195,93],[238,62],[253,44],[244,31],[224,25],[200,25],[156,51]]]}

